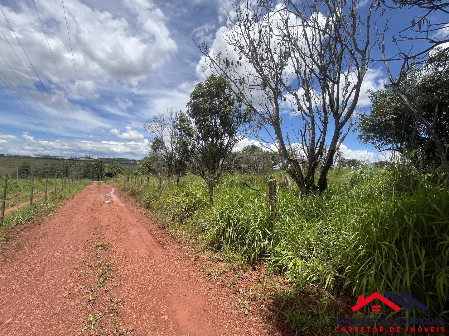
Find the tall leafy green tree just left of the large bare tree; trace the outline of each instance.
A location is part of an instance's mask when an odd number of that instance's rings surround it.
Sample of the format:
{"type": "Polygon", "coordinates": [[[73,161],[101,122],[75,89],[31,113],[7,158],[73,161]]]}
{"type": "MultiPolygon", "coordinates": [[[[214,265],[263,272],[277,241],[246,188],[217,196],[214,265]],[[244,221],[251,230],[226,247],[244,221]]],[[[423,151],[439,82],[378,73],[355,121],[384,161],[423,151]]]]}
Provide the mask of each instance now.
{"type": "Polygon", "coordinates": [[[211,75],[190,94],[187,114],[194,128],[191,171],[202,178],[229,172],[237,156],[234,147],[249,134],[251,113],[242,110],[224,78],[211,75]]]}

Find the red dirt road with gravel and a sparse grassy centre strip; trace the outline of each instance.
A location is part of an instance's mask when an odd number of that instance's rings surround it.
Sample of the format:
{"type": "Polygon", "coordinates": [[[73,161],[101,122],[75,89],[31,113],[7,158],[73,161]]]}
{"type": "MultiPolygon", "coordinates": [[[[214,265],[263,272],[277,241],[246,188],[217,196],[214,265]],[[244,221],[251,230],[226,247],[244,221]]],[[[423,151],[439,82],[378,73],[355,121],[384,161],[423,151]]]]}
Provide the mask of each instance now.
{"type": "Polygon", "coordinates": [[[89,185],[56,215],[11,235],[18,238],[0,252],[0,335],[266,332],[258,313],[237,312],[229,290],[204,276],[204,259],[110,185],[89,185]],[[95,312],[92,332],[86,319],[95,312]]]}

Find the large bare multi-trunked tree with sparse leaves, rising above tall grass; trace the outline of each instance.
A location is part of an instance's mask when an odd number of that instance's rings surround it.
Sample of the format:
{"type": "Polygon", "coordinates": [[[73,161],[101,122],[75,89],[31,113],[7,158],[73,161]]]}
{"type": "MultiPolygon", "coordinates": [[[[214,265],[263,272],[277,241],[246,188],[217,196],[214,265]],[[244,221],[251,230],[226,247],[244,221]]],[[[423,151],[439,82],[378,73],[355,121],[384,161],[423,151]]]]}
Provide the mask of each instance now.
{"type": "Polygon", "coordinates": [[[375,44],[370,40],[373,1],[362,20],[357,0],[285,0],[277,6],[247,0],[235,3],[229,15],[224,33],[229,48],[214,50],[198,41],[205,66],[225,76],[258,118],[268,136],[255,132],[256,137],[277,149],[303,194],[326,189],[335,152],[360,113],[357,102],[375,44]],[[297,118],[298,128],[283,125],[282,113],[297,118]],[[305,172],[291,155],[298,143],[308,163],[305,172]]]}

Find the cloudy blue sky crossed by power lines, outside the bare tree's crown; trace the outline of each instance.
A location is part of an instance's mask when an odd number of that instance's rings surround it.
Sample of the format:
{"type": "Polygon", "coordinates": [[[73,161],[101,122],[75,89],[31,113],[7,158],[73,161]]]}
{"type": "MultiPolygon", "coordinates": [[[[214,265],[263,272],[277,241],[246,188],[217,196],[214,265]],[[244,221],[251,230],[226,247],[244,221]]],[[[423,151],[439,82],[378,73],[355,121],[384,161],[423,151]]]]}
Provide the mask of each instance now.
{"type": "MultiPolygon", "coordinates": [[[[219,39],[217,30],[226,24],[231,8],[227,0],[65,0],[82,106],[62,3],[35,0],[35,4],[65,91],[33,2],[0,0],[49,93],[0,12],[0,28],[7,39],[0,33],[4,58],[0,57],[0,78],[12,89],[0,80],[0,153],[4,154],[143,157],[151,139],[143,123],[166,108],[185,110],[189,93],[200,80],[196,68],[201,53],[193,39],[198,35],[212,42],[219,39]]],[[[391,41],[412,14],[406,10],[384,17],[375,14],[374,20],[381,26],[387,17],[394,17],[387,32],[391,41]]],[[[391,42],[388,47],[390,52],[397,50],[391,42]]],[[[365,91],[379,88],[384,76],[383,65],[377,64],[365,78],[360,103],[367,111],[365,91]]],[[[348,135],[343,155],[376,159],[379,153],[357,142],[356,135],[348,135]]],[[[239,146],[252,141],[248,138],[239,146]]]]}

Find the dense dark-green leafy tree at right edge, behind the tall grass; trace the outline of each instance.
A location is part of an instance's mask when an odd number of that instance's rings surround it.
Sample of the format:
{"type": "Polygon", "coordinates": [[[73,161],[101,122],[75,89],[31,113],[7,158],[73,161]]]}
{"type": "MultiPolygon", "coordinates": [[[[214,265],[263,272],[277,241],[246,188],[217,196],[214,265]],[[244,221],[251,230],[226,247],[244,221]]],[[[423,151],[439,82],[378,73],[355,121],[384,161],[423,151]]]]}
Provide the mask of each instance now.
{"type": "Polygon", "coordinates": [[[358,140],[401,154],[419,148],[427,162],[441,164],[449,159],[449,57],[412,65],[399,85],[413,110],[391,86],[370,91],[371,113],[361,118],[358,140]]]}

